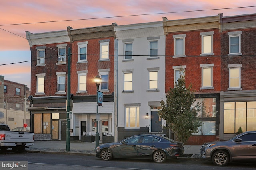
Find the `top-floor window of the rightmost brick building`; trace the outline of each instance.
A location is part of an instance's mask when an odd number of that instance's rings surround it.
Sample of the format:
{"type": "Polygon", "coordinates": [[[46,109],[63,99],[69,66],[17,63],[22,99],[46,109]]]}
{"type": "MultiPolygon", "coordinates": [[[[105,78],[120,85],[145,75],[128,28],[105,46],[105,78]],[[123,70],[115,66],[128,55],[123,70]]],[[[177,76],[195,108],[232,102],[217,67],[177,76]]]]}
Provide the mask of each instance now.
{"type": "Polygon", "coordinates": [[[228,55],[242,55],[241,34],[242,34],[242,31],[228,32],[228,35],[229,35],[229,54],[228,55]]]}

